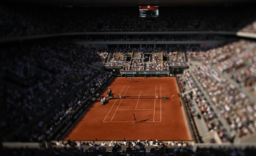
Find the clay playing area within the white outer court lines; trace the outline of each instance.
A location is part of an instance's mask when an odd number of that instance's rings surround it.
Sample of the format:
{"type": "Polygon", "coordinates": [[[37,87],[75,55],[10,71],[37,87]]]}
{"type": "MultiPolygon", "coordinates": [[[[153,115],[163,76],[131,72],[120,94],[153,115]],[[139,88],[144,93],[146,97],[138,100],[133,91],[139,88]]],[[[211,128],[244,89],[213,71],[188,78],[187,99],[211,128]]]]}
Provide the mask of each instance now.
{"type": "Polygon", "coordinates": [[[161,84],[124,85],[103,122],[133,122],[125,115],[135,112],[136,122],[161,122],[161,88],[161,84]]]}

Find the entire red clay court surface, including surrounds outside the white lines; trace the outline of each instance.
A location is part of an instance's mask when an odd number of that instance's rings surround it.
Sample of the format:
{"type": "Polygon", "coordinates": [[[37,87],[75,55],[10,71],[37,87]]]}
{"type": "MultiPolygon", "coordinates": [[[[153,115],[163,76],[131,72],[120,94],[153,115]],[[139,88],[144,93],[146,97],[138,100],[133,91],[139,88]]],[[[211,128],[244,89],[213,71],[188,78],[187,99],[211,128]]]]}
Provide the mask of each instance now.
{"type": "MultiPolygon", "coordinates": [[[[107,101],[106,105],[95,102],[65,140],[192,140],[175,78],[140,77],[133,80],[115,78],[110,84],[114,100],[107,101]],[[120,94],[140,95],[140,98],[118,99],[120,94]],[[172,98],[172,94],[176,97],[172,98]],[[162,96],[169,99],[164,100],[162,96]],[[133,124],[135,111],[137,123],[133,124]]],[[[102,95],[107,92],[108,89],[102,95]]]]}

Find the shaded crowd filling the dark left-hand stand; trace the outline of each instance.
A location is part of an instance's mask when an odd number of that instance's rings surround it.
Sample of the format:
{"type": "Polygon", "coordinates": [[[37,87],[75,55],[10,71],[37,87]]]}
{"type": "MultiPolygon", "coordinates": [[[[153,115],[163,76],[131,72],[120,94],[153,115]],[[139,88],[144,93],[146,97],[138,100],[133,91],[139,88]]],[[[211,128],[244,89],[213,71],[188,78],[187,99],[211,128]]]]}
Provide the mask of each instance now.
{"type": "Polygon", "coordinates": [[[62,109],[56,112],[51,122],[39,122],[37,128],[23,134],[26,137],[18,135],[18,140],[44,140],[45,133],[54,131],[61,120],[81,105],[81,100],[104,83],[108,74],[99,73],[88,64],[104,60],[105,53],[105,49],[61,41],[3,47],[1,133],[15,133],[14,127],[26,129],[29,123],[44,116],[62,99],[75,95],[70,102],[60,104],[62,109]],[[82,89],[84,86],[87,86],[86,90],[82,89]]]}

